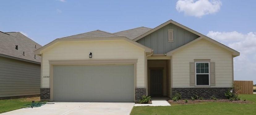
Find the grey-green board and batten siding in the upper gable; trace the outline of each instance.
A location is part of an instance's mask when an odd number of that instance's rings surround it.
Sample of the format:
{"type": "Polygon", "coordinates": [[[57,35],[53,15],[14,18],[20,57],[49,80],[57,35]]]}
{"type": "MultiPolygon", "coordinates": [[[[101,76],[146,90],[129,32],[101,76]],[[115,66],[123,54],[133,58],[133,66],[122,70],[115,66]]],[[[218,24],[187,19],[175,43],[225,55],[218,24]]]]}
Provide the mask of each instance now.
{"type": "Polygon", "coordinates": [[[164,54],[198,37],[198,35],[170,23],[136,42],[150,47],[154,50],[154,54],[164,54]],[[173,29],[173,42],[168,42],[168,29],[173,29]]]}

